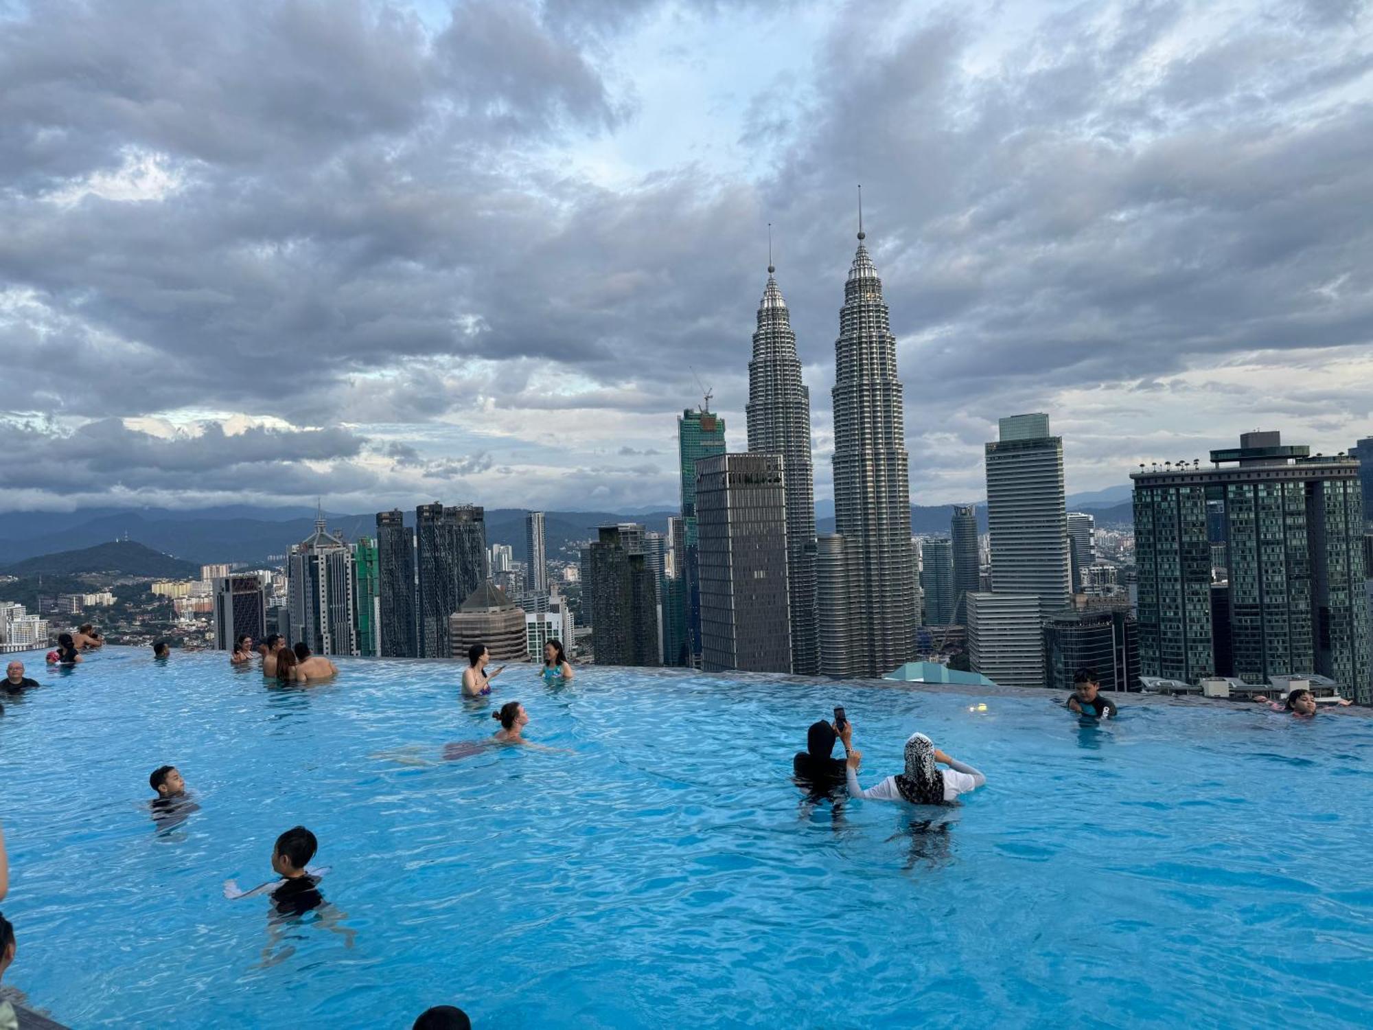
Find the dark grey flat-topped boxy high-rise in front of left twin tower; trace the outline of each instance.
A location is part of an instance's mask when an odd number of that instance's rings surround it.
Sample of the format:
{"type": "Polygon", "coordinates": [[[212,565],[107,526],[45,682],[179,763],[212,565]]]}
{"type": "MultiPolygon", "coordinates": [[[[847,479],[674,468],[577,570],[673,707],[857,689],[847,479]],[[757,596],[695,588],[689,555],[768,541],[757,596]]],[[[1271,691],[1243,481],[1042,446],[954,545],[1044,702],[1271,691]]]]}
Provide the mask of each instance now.
{"type": "Polygon", "coordinates": [[[781,455],[696,463],[702,667],[791,672],[781,455]]]}

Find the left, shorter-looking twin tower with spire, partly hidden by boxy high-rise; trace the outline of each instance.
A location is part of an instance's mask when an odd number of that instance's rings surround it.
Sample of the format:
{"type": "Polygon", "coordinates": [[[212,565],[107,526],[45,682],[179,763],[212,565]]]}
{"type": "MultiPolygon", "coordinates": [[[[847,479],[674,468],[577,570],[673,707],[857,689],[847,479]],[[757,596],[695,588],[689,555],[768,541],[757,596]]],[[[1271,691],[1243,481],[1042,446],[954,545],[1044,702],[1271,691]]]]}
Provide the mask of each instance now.
{"type": "Polygon", "coordinates": [[[754,356],[748,363],[748,450],[781,455],[787,481],[787,569],[791,665],[798,674],[820,670],[816,630],[816,483],[810,457],[810,390],[800,380],[796,334],[776,268],[758,305],[754,356]]]}

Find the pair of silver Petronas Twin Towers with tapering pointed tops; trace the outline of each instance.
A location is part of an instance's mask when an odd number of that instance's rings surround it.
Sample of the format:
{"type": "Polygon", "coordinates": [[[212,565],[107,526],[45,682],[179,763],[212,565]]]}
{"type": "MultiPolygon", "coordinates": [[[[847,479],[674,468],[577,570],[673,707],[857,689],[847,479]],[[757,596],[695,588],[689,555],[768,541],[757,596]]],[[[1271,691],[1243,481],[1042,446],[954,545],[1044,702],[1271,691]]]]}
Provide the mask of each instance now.
{"type": "Polygon", "coordinates": [[[835,529],[816,537],[810,391],[776,271],[748,363],[748,449],[784,457],[792,672],[883,676],[914,645],[914,562],[897,338],[858,231],[835,341],[835,529]]]}

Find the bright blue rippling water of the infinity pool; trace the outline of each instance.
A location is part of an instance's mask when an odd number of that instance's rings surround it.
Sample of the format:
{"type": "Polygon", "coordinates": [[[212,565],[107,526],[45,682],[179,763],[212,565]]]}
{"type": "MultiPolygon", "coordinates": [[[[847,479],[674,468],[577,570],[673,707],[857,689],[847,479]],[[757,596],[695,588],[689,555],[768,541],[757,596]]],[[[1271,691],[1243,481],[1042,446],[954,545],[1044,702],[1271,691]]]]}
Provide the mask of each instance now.
{"type": "Polygon", "coordinates": [[[0,718],[5,983],[76,1027],[1369,1025],[1361,714],[1145,700],[1097,729],[1048,694],[512,666],[493,702],[571,753],[413,765],[492,706],[456,665],[339,665],[281,691],[222,655],[30,662],[48,685],[0,718]],[[865,786],[913,729],[989,786],[924,832],[800,805],[791,755],[836,703],[865,786]],[[159,834],[162,762],[200,810],[159,834]],[[351,946],[224,898],[297,823],[351,946]]]}

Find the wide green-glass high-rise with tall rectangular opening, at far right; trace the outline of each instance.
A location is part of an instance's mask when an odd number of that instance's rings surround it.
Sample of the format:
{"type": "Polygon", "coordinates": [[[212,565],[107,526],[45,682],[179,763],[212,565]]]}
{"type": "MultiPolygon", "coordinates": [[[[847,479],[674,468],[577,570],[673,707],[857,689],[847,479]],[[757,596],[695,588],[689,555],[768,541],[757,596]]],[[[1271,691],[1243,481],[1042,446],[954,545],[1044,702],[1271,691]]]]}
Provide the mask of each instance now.
{"type": "Polygon", "coordinates": [[[1314,672],[1373,702],[1358,461],[1245,433],[1211,464],[1130,477],[1142,673],[1196,683],[1225,648],[1247,683],[1314,672]],[[1223,596],[1212,591],[1210,503],[1225,520],[1223,596]]]}

